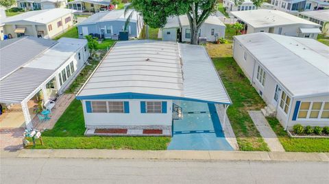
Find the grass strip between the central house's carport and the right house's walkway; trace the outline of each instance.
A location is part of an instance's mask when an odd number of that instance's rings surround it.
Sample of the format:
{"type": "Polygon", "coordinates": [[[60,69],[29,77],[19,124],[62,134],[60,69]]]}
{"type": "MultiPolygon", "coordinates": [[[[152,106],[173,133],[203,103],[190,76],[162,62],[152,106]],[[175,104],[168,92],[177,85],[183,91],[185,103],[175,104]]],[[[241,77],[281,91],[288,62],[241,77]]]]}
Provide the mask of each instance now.
{"type": "Polygon", "coordinates": [[[248,110],[264,107],[265,103],[234,61],[232,44],[210,44],[207,49],[232,99],[233,104],[227,113],[240,149],[268,151],[267,144],[247,113],[248,110]]]}

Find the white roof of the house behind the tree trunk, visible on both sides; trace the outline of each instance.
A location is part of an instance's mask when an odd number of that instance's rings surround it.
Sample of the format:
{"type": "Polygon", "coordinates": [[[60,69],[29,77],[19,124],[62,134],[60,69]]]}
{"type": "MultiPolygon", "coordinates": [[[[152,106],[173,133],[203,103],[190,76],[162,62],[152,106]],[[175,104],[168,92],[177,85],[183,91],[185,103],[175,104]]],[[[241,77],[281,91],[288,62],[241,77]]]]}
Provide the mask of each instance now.
{"type": "MultiPolygon", "coordinates": [[[[225,27],[223,22],[219,20],[218,16],[210,15],[204,21],[206,24],[211,24],[211,25],[221,25],[225,27]]],[[[188,22],[188,18],[186,15],[181,15],[181,16],[171,16],[167,18],[167,24],[164,25],[164,28],[172,28],[172,27],[183,27],[183,26],[189,26],[190,23],[188,22]]]]}

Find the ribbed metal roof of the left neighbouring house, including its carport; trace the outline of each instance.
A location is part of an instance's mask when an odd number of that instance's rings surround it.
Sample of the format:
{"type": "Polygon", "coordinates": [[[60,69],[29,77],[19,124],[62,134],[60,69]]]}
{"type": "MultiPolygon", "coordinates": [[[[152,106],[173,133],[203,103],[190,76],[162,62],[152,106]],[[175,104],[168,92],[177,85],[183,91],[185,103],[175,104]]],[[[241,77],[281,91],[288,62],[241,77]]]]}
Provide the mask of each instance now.
{"type": "MultiPolygon", "coordinates": [[[[69,60],[77,49],[87,44],[86,40],[74,38],[53,41],[27,37],[12,40],[14,39],[8,40],[9,43],[0,49],[1,66],[11,66],[8,75],[0,79],[1,103],[23,101],[49,79],[66,60],[69,60]],[[2,60],[2,55],[9,55],[9,58],[12,57],[15,60],[2,60]]],[[[2,42],[7,42],[7,40],[2,42]]]]}

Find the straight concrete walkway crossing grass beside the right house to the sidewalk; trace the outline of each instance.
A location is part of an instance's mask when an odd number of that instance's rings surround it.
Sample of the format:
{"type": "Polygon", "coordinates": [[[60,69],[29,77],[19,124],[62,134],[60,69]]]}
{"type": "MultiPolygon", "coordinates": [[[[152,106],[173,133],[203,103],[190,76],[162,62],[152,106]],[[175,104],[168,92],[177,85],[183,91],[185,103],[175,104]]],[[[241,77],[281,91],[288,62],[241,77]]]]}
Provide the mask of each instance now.
{"type": "Polygon", "coordinates": [[[248,111],[248,113],[256,125],[256,128],[260,132],[260,135],[262,135],[265,142],[267,143],[267,146],[269,146],[269,149],[271,151],[284,151],[284,148],[276,136],[276,133],[274,133],[262,112],[248,111]]]}

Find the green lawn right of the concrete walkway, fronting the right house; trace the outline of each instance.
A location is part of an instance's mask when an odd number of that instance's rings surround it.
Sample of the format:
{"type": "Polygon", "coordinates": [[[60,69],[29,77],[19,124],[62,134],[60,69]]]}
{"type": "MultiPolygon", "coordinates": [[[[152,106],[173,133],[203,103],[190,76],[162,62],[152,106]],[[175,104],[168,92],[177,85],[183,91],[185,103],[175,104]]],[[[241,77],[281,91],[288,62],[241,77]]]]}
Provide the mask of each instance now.
{"type": "Polygon", "coordinates": [[[293,138],[289,137],[284,131],[280,122],[276,118],[267,118],[273,131],[284,147],[284,150],[290,152],[329,152],[328,138],[293,138]]]}

